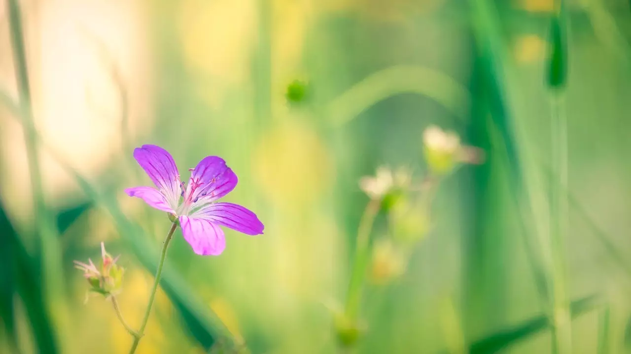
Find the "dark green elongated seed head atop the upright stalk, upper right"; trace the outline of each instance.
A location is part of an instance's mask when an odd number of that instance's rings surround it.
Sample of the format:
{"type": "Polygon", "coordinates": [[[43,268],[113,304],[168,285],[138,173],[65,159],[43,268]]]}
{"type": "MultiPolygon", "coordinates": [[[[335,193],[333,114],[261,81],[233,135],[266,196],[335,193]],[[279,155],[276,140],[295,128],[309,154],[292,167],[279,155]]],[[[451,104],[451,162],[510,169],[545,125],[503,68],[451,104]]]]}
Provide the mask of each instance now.
{"type": "Polygon", "coordinates": [[[553,16],[550,25],[550,57],[548,59],[548,86],[562,89],[567,81],[567,41],[560,16],[553,16]]]}

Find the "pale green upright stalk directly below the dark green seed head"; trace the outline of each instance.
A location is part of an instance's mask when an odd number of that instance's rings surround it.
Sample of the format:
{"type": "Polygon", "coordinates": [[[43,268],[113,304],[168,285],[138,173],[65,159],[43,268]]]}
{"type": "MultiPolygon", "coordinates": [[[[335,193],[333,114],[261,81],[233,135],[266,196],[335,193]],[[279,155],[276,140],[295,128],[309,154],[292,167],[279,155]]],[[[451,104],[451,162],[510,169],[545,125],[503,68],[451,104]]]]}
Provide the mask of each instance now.
{"type": "Polygon", "coordinates": [[[552,333],[553,351],[559,354],[572,352],[572,328],[569,304],[565,292],[564,239],[567,231],[567,116],[560,93],[553,93],[551,119],[550,183],[550,254],[552,282],[552,333]],[[558,178],[557,181],[552,180],[558,178]]]}

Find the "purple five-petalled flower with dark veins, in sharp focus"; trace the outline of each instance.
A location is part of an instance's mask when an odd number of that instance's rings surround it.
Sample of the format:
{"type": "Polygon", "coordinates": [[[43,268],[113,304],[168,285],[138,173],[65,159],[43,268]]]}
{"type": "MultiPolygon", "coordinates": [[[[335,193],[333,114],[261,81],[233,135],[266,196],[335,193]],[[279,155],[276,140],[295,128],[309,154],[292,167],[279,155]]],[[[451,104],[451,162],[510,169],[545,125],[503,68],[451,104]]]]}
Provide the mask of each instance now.
{"type": "Polygon", "coordinates": [[[182,235],[195,253],[218,256],[223,252],[226,241],[219,226],[248,235],[263,233],[262,222],[247,208],[233,203],[216,203],[237,186],[237,175],[221,157],[206,156],[199,161],[189,170],[188,185],[180,181],[173,157],[162,147],[137,147],[134,158],[158,188],[127,188],[125,193],[177,216],[182,235]]]}

